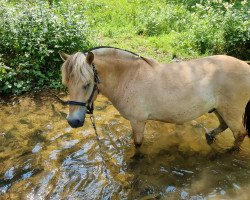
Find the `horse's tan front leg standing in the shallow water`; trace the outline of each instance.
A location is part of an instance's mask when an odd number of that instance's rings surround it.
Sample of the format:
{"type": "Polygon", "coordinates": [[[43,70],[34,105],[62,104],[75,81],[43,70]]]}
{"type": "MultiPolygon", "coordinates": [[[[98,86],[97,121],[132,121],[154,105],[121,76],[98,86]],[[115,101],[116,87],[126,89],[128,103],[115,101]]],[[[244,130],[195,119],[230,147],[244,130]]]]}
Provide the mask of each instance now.
{"type": "Polygon", "coordinates": [[[136,149],[139,149],[142,145],[146,121],[131,120],[130,124],[132,127],[135,147],[136,149]]]}

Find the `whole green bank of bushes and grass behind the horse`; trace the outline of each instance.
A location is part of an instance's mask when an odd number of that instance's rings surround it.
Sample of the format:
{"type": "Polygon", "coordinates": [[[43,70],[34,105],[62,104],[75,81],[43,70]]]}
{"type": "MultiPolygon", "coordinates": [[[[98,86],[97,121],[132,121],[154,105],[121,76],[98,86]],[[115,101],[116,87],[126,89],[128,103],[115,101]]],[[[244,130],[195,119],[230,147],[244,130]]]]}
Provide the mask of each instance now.
{"type": "Polygon", "coordinates": [[[0,3],[0,93],[60,88],[58,51],[73,53],[90,44],[125,48],[159,61],[171,60],[173,54],[250,59],[247,0],[0,3]]]}

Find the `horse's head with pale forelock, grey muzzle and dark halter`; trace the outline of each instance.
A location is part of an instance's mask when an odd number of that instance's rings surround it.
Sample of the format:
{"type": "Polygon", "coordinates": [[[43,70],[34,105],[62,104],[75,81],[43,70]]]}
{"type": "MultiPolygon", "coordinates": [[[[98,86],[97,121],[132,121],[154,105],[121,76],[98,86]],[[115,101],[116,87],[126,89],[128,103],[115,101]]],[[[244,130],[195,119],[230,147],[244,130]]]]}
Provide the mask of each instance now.
{"type": "Polygon", "coordinates": [[[91,112],[91,106],[96,99],[98,88],[95,69],[93,69],[94,54],[88,52],[67,55],[60,53],[64,61],[62,83],[69,92],[69,114],[67,121],[73,128],[83,126],[85,115],[91,112]]]}

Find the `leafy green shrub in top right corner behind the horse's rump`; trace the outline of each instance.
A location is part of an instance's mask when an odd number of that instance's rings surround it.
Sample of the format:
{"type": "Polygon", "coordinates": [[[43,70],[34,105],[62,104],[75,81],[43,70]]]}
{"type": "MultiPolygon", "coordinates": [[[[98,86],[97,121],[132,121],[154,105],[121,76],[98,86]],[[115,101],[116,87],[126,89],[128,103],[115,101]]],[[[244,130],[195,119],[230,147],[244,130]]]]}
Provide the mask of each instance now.
{"type": "Polygon", "coordinates": [[[194,48],[201,54],[225,53],[249,59],[250,15],[249,3],[228,3],[218,0],[205,5],[196,4],[191,33],[194,48]]]}

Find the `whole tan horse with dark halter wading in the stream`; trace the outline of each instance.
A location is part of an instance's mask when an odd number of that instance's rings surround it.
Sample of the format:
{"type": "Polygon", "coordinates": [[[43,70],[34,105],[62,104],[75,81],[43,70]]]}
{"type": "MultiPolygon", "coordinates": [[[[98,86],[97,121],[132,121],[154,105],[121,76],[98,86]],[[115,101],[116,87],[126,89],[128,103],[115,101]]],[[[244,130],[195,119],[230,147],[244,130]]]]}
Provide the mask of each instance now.
{"type": "Polygon", "coordinates": [[[67,121],[73,128],[83,126],[100,92],[129,120],[137,149],[147,120],[183,124],[207,112],[219,121],[205,133],[208,144],[227,128],[234,149],[250,137],[250,66],[244,61],[214,55],[161,64],[109,46],[60,56],[70,98],[67,121]]]}

